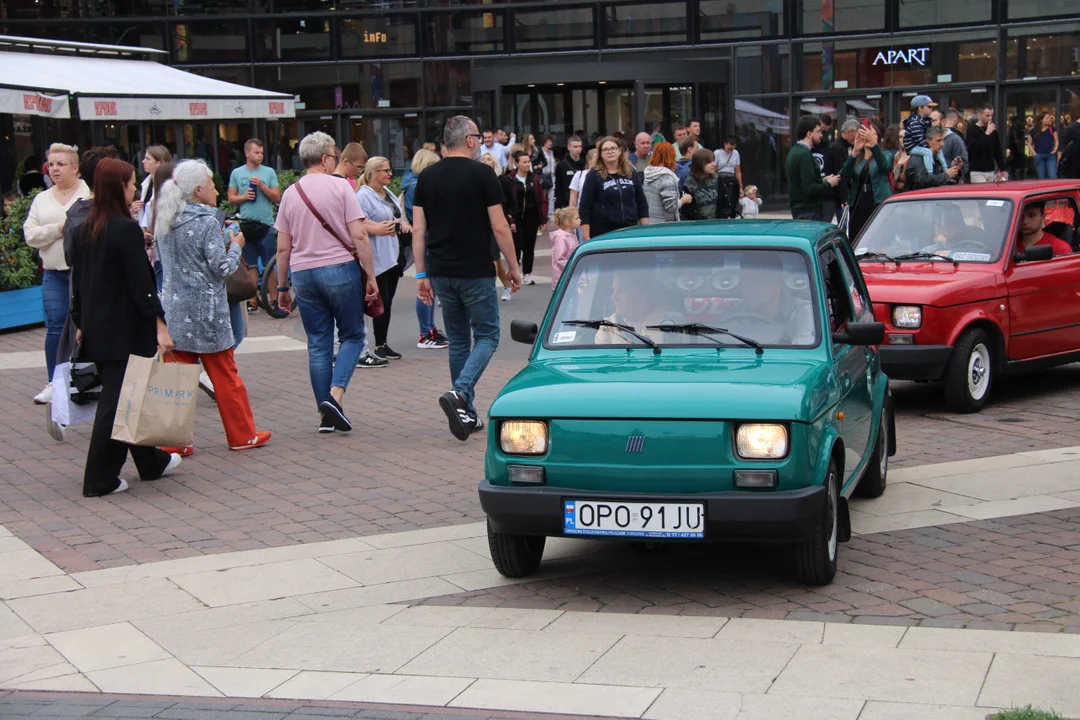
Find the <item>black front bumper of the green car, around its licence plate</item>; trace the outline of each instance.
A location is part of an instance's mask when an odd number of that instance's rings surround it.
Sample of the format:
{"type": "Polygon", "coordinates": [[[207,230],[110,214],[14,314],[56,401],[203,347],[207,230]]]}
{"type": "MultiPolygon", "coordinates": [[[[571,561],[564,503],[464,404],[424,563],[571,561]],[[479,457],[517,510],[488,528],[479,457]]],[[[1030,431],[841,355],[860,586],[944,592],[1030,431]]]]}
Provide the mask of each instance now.
{"type": "MultiPolygon", "coordinates": [[[[725,491],[665,495],[480,484],[480,504],[497,532],[562,536],[565,500],[705,504],[705,540],[801,540],[813,532],[825,488],[768,492],[725,491]]],[[[581,538],[582,535],[566,535],[581,538]]],[[[612,538],[599,536],[600,540],[612,538]]],[[[647,540],[632,538],[631,540],[647,540]]]]}

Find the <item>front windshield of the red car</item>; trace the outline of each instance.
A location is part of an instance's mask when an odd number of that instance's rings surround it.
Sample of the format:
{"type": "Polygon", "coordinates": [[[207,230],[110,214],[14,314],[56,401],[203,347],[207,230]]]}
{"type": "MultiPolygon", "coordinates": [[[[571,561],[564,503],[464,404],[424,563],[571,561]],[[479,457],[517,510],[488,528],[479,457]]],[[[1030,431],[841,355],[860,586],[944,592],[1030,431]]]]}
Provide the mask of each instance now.
{"type": "Polygon", "coordinates": [[[1005,246],[1012,215],[1012,201],[1001,198],[887,203],[863,231],[855,255],[888,262],[891,258],[904,261],[903,256],[913,253],[931,253],[959,262],[996,262],[1005,246]]]}

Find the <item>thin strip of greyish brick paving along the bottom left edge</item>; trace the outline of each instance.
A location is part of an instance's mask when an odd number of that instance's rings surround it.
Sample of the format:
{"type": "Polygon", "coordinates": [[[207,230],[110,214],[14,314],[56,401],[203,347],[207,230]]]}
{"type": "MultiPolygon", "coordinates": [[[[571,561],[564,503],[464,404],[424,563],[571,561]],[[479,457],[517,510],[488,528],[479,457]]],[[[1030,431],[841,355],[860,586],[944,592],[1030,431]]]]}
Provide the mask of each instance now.
{"type": "Polygon", "coordinates": [[[369,703],[298,703],[295,701],[152,695],[99,695],[0,690],[0,718],[109,718],[110,720],[586,720],[572,715],[542,715],[409,707],[369,703]]]}

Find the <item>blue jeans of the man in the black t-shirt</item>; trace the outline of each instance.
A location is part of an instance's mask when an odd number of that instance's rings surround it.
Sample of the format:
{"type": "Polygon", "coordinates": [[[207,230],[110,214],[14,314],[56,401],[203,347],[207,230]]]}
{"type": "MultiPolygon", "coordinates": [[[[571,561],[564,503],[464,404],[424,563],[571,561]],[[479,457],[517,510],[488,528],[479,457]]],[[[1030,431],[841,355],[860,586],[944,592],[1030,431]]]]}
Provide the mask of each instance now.
{"type": "Polygon", "coordinates": [[[450,382],[469,413],[476,383],[499,347],[499,295],[494,277],[432,277],[443,302],[443,324],[450,340],[450,382]]]}

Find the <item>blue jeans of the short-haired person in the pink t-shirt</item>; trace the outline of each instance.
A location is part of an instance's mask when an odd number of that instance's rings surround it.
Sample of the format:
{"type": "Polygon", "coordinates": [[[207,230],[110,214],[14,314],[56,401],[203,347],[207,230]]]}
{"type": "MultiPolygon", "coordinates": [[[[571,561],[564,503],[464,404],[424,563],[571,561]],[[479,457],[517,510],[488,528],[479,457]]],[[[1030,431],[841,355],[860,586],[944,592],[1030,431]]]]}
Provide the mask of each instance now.
{"type": "Polygon", "coordinates": [[[352,260],[340,264],[293,271],[293,290],[308,335],[308,371],[319,405],[330,388],[348,388],[364,350],[364,288],[352,260]],[[334,327],[337,326],[337,361],[334,327]]]}

